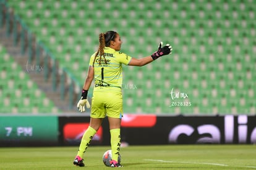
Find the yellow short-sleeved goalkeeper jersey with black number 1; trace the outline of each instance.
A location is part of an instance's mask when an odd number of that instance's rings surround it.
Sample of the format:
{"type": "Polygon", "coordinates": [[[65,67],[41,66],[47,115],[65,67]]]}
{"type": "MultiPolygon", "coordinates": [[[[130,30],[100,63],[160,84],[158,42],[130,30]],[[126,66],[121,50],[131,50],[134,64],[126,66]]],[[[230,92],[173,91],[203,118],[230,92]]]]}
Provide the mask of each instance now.
{"type": "Polygon", "coordinates": [[[132,57],[127,54],[114,50],[113,48],[105,47],[103,56],[96,56],[95,53],[90,57],[90,66],[94,67],[95,88],[94,91],[103,90],[104,87],[122,88],[122,64],[129,64],[132,57]],[[93,61],[95,59],[95,63],[93,61]],[[99,87],[99,88],[97,88],[99,87]]]}

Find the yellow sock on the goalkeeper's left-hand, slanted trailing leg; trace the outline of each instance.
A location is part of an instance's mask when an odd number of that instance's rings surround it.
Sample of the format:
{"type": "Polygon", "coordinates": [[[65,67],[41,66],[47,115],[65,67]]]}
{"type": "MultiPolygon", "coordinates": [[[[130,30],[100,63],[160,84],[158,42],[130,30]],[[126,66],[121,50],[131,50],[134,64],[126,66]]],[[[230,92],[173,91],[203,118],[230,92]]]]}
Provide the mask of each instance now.
{"type": "Polygon", "coordinates": [[[82,140],[81,140],[81,143],[79,146],[79,151],[77,152],[78,156],[83,158],[83,154],[87,150],[87,148],[90,145],[90,142],[95,134],[96,134],[96,130],[89,126],[88,129],[83,134],[83,137],[82,137],[82,140]]]}

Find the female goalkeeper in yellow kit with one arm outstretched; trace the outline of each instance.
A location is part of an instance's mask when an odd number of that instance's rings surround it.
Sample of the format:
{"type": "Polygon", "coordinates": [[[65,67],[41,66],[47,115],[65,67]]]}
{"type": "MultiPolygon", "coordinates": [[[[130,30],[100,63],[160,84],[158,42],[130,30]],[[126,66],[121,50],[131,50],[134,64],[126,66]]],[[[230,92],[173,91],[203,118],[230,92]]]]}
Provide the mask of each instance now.
{"type": "Polygon", "coordinates": [[[105,116],[108,116],[109,130],[111,134],[112,161],[111,167],[122,167],[117,162],[121,145],[121,118],[122,118],[122,64],[128,66],[145,66],[158,57],[171,54],[170,45],[163,46],[161,42],[158,51],[151,56],[135,59],[127,54],[119,52],[122,41],[117,32],[108,31],[100,33],[100,45],[98,51],[90,57],[88,75],[83,85],[82,97],[77,103],[79,111],[85,111],[85,105],[90,108],[87,93],[92,80],[95,80],[93,89],[92,109],[90,113],[90,125],[83,134],[79,151],[74,159],[77,166],[85,166],[83,154],[87,150],[93,136],[100,128],[105,116]]]}

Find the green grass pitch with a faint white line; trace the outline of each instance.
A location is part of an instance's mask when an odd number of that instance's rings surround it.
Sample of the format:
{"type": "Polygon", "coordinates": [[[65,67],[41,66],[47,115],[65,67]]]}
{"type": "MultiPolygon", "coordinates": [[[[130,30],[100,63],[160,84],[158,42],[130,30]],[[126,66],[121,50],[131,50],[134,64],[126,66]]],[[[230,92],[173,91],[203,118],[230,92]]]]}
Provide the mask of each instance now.
{"type": "MultiPolygon", "coordinates": [[[[0,169],[109,169],[110,147],[90,146],[85,167],[72,164],[78,147],[0,148],[0,169]]],[[[122,169],[256,169],[255,145],[160,145],[121,148],[122,169]]]]}

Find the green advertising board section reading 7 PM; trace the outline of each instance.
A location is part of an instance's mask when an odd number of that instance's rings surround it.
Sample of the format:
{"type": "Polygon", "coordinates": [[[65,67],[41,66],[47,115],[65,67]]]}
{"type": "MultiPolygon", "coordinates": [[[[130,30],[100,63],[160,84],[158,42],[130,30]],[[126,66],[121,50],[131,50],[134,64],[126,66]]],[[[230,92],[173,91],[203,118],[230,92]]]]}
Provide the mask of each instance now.
{"type": "Polygon", "coordinates": [[[0,146],[57,144],[57,116],[1,116],[0,146]]]}

